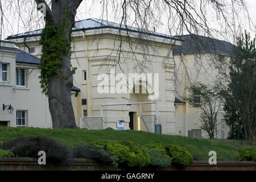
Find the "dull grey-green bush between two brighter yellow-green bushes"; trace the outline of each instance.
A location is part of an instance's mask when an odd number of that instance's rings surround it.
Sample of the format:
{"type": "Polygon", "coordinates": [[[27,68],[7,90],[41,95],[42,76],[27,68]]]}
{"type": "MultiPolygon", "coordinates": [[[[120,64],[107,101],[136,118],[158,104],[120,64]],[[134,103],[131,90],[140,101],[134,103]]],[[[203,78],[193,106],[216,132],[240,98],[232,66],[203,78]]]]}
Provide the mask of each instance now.
{"type": "Polygon", "coordinates": [[[161,154],[159,151],[150,150],[148,148],[145,149],[150,155],[150,166],[153,167],[167,167],[171,166],[172,158],[166,154],[161,154]]]}

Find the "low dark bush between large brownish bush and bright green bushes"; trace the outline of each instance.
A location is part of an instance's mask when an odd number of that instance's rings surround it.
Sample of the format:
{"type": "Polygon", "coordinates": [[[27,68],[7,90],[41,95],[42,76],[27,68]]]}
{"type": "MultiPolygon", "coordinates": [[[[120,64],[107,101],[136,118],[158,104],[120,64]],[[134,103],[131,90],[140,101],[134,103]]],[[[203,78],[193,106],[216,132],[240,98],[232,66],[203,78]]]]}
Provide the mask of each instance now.
{"type": "Polygon", "coordinates": [[[118,167],[118,158],[111,155],[108,151],[103,148],[96,146],[84,145],[76,146],[72,148],[73,158],[85,158],[85,159],[95,159],[98,162],[105,164],[113,164],[114,167],[118,167]]]}

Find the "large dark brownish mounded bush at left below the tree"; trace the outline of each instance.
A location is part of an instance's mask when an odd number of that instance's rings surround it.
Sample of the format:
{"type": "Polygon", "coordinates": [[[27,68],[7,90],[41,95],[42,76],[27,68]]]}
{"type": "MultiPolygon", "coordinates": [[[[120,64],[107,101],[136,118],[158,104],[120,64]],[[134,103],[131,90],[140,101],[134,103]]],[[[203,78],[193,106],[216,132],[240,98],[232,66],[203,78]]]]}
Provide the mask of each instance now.
{"type": "Polygon", "coordinates": [[[2,149],[10,150],[15,156],[39,158],[38,152],[46,152],[47,164],[59,164],[69,158],[65,146],[48,137],[18,137],[3,143],[2,149]]]}

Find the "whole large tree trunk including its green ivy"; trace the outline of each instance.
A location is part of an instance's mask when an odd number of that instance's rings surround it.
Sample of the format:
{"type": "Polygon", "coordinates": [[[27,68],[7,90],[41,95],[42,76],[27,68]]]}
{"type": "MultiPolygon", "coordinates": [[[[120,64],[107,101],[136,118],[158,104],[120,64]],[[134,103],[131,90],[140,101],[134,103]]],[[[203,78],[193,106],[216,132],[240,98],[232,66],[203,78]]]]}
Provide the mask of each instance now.
{"type": "Polygon", "coordinates": [[[82,0],[53,0],[51,9],[44,0],[35,2],[37,5],[44,3],[46,7],[46,27],[40,40],[42,57],[39,78],[43,93],[48,96],[52,127],[77,128],[71,102],[75,73],[75,68],[71,66],[71,31],[82,0]]]}

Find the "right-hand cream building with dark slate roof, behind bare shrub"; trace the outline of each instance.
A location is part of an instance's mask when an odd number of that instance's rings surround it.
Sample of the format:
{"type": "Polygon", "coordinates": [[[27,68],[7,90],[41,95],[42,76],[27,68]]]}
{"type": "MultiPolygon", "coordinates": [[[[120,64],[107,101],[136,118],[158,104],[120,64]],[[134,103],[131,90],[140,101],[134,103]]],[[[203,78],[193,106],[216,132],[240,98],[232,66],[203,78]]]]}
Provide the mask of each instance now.
{"type": "MultiPolygon", "coordinates": [[[[188,93],[187,88],[193,82],[214,84],[220,73],[227,72],[227,64],[233,53],[233,45],[217,39],[195,34],[178,36],[183,39],[182,46],[174,48],[175,61],[175,121],[181,135],[208,138],[200,129],[200,111],[189,106],[183,100],[188,94],[200,100],[196,92],[188,93]],[[179,98],[179,99],[177,99],[179,98]]],[[[219,80],[220,81],[220,80],[219,80]]],[[[222,106],[222,102],[220,102],[222,106]]],[[[217,115],[216,138],[228,137],[229,127],[225,123],[224,112],[217,115]]]]}

